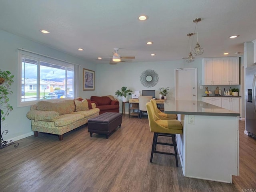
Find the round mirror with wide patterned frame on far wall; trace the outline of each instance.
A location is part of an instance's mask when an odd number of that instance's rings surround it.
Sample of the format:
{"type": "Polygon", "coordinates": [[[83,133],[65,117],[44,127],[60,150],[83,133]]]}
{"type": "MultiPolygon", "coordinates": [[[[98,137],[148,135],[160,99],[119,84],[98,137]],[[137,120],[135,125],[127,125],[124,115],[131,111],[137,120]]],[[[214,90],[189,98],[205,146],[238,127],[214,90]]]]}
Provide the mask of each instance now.
{"type": "Polygon", "coordinates": [[[156,71],[148,69],[141,73],[140,82],[145,87],[154,87],[158,83],[158,74],[156,71]]]}

